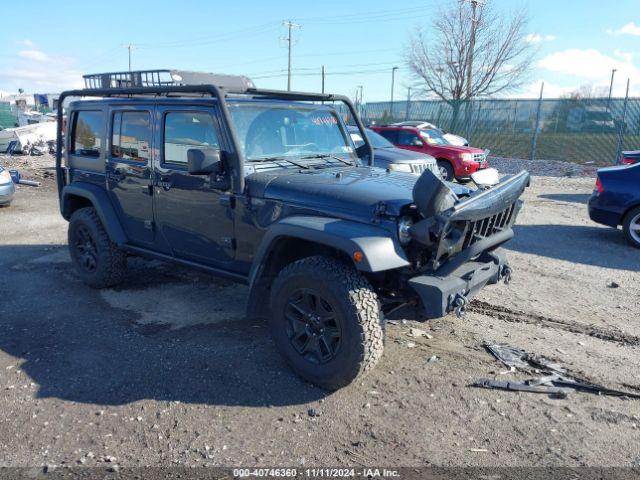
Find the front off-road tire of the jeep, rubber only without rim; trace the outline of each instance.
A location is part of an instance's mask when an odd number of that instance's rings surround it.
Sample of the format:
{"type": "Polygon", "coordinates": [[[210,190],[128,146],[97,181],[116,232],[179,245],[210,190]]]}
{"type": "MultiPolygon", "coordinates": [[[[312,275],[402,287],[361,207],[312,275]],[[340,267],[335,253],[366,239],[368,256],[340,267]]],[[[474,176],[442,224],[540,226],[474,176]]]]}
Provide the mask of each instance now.
{"type": "Polygon", "coordinates": [[[327,390],[345,387],[366,375],[382,357],[383,316],[371,285],[353,267],[324,256],[307,257],[285,267],[271,289],[271,333],[291,368],[327,390]],[[339,318],[342,336],[331,360],[314,364],[293,346],[285,312],[292,295],[316,291],[339,318]]]}

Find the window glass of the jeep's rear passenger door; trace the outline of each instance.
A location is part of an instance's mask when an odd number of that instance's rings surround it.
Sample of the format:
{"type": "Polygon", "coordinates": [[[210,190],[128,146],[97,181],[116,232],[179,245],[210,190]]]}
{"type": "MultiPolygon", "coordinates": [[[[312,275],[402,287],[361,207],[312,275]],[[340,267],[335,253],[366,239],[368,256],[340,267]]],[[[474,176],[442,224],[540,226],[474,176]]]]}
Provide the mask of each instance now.
{"type": "Polygon", "coordinates": [[[116,112],[113,114],[112,157],[147,162],[150,143],[151,116],[149,112],[116,112]]]}

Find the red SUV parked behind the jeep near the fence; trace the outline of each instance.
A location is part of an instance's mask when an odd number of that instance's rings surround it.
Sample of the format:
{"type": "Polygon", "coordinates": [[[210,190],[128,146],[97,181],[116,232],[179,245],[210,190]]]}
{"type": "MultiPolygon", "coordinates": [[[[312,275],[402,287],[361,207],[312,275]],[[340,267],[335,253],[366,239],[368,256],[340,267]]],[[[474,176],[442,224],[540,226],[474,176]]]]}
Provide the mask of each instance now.
{"type": "Polygon", "coordinates": [[[473,147],[456,147],[451,145],[442,134],[429,128],[383,126],[371,127],[396,147],[426,153],[435,157],[442,178],[452,181],[466,179],[487,168],[487,151],[473,147]]]}

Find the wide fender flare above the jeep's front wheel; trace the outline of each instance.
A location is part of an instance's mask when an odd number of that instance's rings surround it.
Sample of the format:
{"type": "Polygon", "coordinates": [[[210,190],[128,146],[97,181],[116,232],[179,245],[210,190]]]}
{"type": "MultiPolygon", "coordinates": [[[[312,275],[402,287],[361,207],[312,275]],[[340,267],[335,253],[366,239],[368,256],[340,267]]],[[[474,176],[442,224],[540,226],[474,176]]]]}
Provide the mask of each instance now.
{"type": "Polygon", "coordinates": [[[269,226],[262,238],[249,274],[253,285],[263,260],[280,238],[299,238],[340,250],[353,258],[361,251],[363,259],[354,262],[363,272],[382,272],[410,265],[399,243],[387,230],[375,225],[327,217],[292,216],[269,226]]]}

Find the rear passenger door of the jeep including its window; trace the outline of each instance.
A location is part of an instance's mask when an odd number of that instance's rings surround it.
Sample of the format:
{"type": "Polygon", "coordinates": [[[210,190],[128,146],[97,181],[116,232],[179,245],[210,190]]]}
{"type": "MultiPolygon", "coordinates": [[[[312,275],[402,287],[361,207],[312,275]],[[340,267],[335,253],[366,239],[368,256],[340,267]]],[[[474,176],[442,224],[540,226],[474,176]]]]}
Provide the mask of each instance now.
{"type": "Polygon", "coordinates": [[[129,242],[151,246],[153,107],[123,106],[110,111],[107,188],[129,242]]]}

